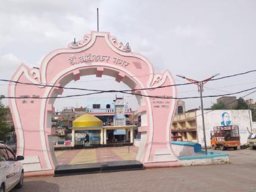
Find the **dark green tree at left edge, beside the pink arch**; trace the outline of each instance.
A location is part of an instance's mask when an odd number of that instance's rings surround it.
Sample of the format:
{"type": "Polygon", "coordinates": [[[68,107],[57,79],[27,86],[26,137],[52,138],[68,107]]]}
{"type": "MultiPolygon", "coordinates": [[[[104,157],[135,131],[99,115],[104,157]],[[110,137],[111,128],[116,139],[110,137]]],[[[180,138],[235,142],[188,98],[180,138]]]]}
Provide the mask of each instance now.
{"type": "Polygon", "coordinates": [[[0,140],[5,140],[6,136],[11,132],[11,127],[6,122],[6,114],[9,110],[2,104],[2,95],[0,96],[0,140]]]}

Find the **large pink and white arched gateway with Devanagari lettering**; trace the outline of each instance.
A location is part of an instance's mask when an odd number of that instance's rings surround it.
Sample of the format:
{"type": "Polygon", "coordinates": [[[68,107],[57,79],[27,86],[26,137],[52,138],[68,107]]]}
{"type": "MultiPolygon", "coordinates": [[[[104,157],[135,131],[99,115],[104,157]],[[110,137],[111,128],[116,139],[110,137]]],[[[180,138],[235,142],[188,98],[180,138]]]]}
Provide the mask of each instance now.
{"type": "MultiPolygon", "coordinates": [[[[37,99],[62,94],[62,88],[80,76],[102,74],[124,82],[132,90],[151,96],[176,97],[175,87],[153,89],[174,84],[169,71],[155,74],[151,63],[143,55],[130,52],[108,32],[91,32],[84,40],[69,43],[68,48],[57,49],[44,57],[40,68],[21,65],[12,80],[41,85],[9,85],[9,105],[17,135],[17,154],[24,155],[27,171],[54,172],[51,155],[51,115],[55,99],[37,99]]],[[[172,151],[170,125],[176,107],[174,99],[157,99],[137,96],[138,112],[141,115],[140,148],[137,160],[146,167],[177,166],[179,160],[172,151]]]]}

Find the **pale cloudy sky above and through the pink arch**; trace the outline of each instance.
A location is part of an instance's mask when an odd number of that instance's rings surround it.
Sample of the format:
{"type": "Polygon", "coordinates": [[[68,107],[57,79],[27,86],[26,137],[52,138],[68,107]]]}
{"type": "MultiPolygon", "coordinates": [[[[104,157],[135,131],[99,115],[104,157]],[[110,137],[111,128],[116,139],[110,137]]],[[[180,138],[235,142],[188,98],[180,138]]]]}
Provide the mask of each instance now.
{"type": "MultiPolygon", "coordinates": [[[[169,69],[177,77],[203,80],[256,69],[256,1],[84,1],[84,0],[9,0],[0,2],[0,79],[10,79],[24,63],[40,66],[49,52],[66,48],[97,30],[96,9],[99,8],[99,30],[110,32],[118,41],[129,42],[132,51],[146,56],[155,71],[169,69]]],[[[127,88],[110,77],[82,77],[66,87],[127,88]]],[[[256,87],[256,73],[208,82],[204,95],[233,93],[256,87]]],[[[199,96],[196,85],[177,87],[178,96],[199,96]]],[[[77,94],[64,91],[66,94],[77,94]]],[[[235,96],[244,96],[246,91],[235,96]]],[[[0,94],[7,95],[7,83],[0,82],[0,94]]],[[[123,96],[123,95],[118,95],[123,96]]],[[[98,98],[115,98],[100,94],[98,98]]],[[[55,108],[86,106],[87,98],[57,99],[55,108]]],[[[124,98],[135,110],[133,96],[124,98]]],[[[256,93],[244,99],[256,100],[256,93]]],[[[210,107],[217,98],[205,98],[210,107]]],[[[198,108],[199,99],[186,99],[186,110],[198,108]]],[[[7,99],[4,99],[7,105],[7,99]]]]}

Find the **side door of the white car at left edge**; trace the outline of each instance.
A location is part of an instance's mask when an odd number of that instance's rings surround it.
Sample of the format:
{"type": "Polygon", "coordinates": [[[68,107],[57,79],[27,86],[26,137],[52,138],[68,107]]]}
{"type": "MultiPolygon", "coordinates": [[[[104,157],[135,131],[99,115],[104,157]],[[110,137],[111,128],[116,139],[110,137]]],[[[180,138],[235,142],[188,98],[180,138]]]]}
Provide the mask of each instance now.
{"type": "Polygon", "coordinates": [[[4,172],[4,182],[6,189],[14,185],[13,166],[9,165],[9,157],[5,148],[0,148],[0,169],[4,172]]]}

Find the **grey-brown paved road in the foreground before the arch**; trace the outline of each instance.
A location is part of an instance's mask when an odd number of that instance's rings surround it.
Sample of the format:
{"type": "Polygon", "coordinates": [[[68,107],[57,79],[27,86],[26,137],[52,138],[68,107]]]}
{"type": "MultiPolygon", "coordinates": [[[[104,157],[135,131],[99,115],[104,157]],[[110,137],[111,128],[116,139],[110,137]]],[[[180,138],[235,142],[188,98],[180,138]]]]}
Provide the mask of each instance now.
{"type": "Polygon", "coordinates": [[[226,151],[226,165],[155,168],[65,177],[29,177],[22,191],[256,191],[256,151],[226,151]]]}

